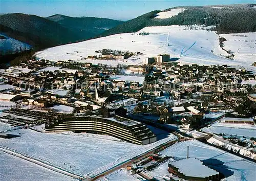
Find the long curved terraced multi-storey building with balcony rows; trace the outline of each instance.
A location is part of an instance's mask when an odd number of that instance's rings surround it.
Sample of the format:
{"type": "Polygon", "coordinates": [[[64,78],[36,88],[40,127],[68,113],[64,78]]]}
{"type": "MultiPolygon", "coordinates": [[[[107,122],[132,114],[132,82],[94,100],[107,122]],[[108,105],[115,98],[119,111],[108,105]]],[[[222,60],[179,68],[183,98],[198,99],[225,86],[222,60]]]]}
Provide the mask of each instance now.
{"type": "Polygon", "coordinates": [[[144,124],[117,115],[113,118],[67,117],[46,125],[46,132],[61,131],[108,134],[139,145],[157,141],[156,135],[144,124]]]}

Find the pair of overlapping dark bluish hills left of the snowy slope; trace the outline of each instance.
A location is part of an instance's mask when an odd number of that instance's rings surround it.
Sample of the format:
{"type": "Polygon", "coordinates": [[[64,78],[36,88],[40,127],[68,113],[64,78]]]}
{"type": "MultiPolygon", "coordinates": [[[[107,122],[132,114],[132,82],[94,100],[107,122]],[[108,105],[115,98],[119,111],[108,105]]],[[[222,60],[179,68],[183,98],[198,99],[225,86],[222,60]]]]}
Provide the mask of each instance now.
{"type": "Polygon", "coordinates": [[[47,18],[22,13],[0,15],[0,33],[28,43],[36,51],[78,42],[121,24],[122,21],[53,15],[47,18]]]}

